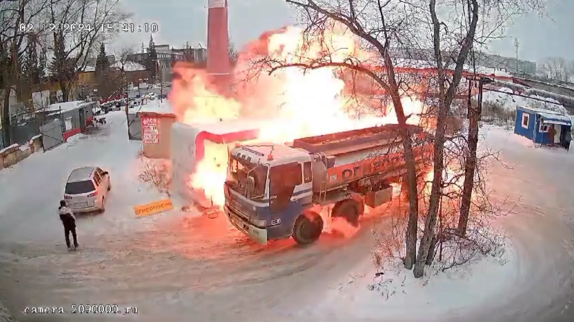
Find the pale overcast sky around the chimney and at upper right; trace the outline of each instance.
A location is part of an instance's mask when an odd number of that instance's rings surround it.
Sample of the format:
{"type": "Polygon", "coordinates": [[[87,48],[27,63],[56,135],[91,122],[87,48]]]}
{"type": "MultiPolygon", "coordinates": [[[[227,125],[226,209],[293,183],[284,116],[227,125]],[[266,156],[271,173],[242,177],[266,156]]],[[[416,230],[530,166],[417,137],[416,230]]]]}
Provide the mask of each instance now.
{"type": "MultiPolygon", "coordinates": [[[[515,56],[514,37],[518,38],[520,59],[541,60],[561,56],[574,60],[574,0],[548,0],[551,18],[531,14],[514,18],[507,30],[507,38],[495,41],[491,53],[515,56]]],[[[156,22],[159,32],[156,44],[181,47],[185,41],[196,46],[207,44],[208,0],[122,0],[124,10],[134,14],[136,24],[156,22]]],[[[238,46],[256,38],[269,29],[293,24],[293,11],[283,0],[228,0],[229,32],[238,46]]],[[[137,26],[136,26],[137,29],[137,26]]],[[[149,34],[123,33],[111,49],[123,46],[147,46],[149,34]]]]}

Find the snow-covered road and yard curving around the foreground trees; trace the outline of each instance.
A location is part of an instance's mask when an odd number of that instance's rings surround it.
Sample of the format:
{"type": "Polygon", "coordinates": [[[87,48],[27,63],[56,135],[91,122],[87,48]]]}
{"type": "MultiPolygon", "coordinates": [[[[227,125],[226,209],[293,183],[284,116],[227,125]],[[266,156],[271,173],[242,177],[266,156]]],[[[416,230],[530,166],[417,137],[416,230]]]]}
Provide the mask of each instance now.
{"type": "MultiPolygon", "coordinates": [[[[332,281],[369,258],[369,230],[351,240],[323,236],[306,248],[290,239],[261,247],[222,217],[184,220],[184,214],[172,212],[135,219],[133,205],[161,196],[134,183],[139,143],[125,138],[124,119],[122,112],[113,112],[98,135],[0,172],[0,298],[14,315],[21,322],[324,320],[313,308],[320,307],[332,281]],[[110,169],[114,188],[105,214],[79,219],[82,248],[68,253],[55,208],[69,171],[86,164],[110,169]],[[21,313],[25,307],[72,304],[118,304],[137,307],[138,313],[21,313]]],[[[510,148],[513,137],[505,141],[501,130],[488,134],[506,161],[518,163],[513,170],[495,167],[493,179],[501,198],[519,200],[516,214],[503,219],[517,248],[519,271],[513,288],[476,312],[469,308],[449,317],[572,321],[574,186],[568,170],[574,156],[510,148]]],[[[349,313],[363,308],[333,309],[349,313]]],[[[337,320],[360,321],[335,315],[337,320]]]]}

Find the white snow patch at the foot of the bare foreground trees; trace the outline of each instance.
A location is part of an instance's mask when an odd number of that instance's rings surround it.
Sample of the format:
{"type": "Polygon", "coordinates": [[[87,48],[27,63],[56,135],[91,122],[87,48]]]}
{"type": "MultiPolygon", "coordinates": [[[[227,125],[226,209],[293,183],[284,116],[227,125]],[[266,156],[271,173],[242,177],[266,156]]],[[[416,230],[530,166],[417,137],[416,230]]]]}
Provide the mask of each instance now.
{"type": "Polygon", "coordinates": [[[325,321],[422,320],[478,307],[481,302],[497,298],[497,294],[517,278],[514,253],[505,256],[506,263],[482,258],[464,269],[447,270],[421,279],[404,269],[401,259],[388,262],[383,274],[378,276],[373,262],[364,261],[331,285],[323,301],[300,314],[312,312],[325,321]]]}

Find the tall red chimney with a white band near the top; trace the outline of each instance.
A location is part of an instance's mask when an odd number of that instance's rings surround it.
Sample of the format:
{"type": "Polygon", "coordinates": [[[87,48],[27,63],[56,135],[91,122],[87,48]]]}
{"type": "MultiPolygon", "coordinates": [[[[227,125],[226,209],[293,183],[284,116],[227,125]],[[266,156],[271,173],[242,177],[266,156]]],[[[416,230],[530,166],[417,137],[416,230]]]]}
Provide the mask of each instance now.
{"type": "Polygon", "coordinates": [[[227,0],[208,1],[207,73],[214,76],[230,75],[227,0]]]}

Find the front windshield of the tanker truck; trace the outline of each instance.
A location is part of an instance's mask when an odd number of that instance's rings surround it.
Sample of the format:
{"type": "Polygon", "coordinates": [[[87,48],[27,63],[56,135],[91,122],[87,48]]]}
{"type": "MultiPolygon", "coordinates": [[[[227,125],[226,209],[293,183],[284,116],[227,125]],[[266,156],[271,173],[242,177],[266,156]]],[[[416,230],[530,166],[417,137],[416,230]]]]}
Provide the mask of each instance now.
{"type": "Polygon", "coordinates": [[[265,195],[267,166],[230,156],[228,172],[227,184],[230,185],[230,188],[245,196],[247,192],[247,176],[249,175],[255,181],[253,192],[250,193],[250,199],[258,199],[265,195]]]}

